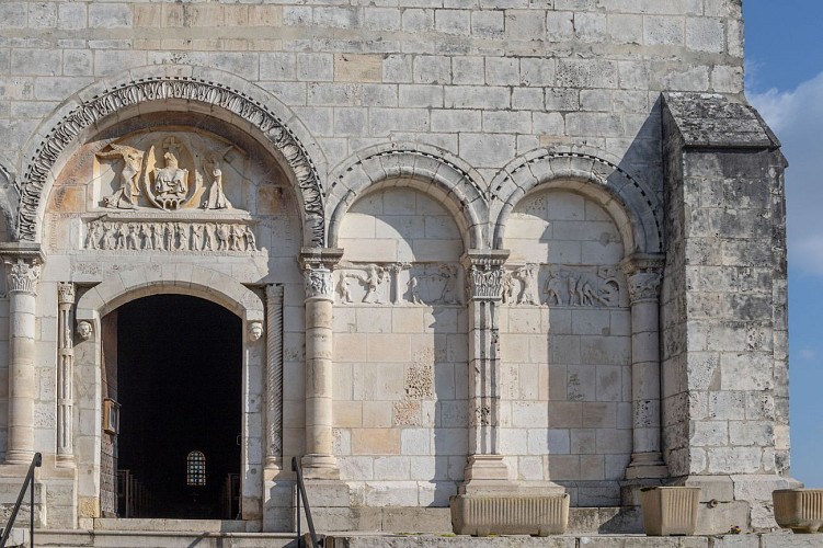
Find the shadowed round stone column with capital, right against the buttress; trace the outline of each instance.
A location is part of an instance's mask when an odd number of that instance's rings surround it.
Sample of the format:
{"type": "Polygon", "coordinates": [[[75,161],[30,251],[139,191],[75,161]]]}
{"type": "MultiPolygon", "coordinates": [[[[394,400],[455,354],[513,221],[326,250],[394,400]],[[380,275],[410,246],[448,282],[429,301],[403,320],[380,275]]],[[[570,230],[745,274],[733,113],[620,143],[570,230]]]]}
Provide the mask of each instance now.
{"type": "Polygon", "coordinates": [[[660,285],[662,259],[630,256],[622,263],[631,300],[631,404],[633,450],[626,479],[668,476],[661,453],[660,285]]]}

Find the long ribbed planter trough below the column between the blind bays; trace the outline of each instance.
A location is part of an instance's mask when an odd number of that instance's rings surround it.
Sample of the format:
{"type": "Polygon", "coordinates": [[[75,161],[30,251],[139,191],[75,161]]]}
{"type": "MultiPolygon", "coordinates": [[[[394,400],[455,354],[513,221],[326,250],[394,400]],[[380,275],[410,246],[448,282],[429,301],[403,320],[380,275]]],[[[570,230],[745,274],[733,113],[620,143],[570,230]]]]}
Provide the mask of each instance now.
{"type": "Polygon", "coordinates": [[[559,535],[569,523],[569,495],[472,496],[449,499],[458,535],[559,535]]]}

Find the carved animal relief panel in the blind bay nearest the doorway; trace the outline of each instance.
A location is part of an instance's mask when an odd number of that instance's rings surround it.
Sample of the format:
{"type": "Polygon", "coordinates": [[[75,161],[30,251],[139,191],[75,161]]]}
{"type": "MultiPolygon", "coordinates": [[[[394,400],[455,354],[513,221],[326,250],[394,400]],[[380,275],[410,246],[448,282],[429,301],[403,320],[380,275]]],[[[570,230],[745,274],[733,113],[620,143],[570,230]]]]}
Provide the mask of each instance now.
{"type": "Polygon", "coordinates": [[[346,263],[335,270],[336,301],[460,305],[461,269],[450,263],[346,263]]]}

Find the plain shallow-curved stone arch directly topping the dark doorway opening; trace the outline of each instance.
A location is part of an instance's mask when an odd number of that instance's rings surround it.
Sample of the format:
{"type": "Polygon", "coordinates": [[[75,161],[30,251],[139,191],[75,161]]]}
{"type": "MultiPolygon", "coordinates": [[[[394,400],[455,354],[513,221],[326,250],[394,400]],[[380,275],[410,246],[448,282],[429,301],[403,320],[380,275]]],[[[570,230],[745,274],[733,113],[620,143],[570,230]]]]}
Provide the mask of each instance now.
{"type": "Polygon", "coordinates": [[[254,292],[227,274],[191,264],[121,272],[80,297],[76,318],[93,322],[126,302],[159,294],[201,297],[226,307],[245,322],[265,319],[263,300],[254,292]]]}

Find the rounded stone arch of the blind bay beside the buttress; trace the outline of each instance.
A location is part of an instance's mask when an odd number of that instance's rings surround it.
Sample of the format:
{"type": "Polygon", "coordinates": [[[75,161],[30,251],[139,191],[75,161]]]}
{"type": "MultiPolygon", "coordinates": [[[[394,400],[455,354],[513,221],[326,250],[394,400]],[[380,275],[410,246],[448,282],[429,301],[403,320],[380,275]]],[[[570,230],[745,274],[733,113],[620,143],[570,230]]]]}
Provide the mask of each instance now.
{"type": "Polygon", "coordinates": [[[585,194],[615,218],[627,255],[663,251],[663,204],[645,183],[616,163],[583,151],[539,149],[511,162],[492,181],[494,247],[503,244],[512,209],[536,187],[585,194]]]}

